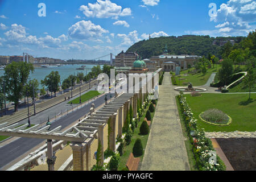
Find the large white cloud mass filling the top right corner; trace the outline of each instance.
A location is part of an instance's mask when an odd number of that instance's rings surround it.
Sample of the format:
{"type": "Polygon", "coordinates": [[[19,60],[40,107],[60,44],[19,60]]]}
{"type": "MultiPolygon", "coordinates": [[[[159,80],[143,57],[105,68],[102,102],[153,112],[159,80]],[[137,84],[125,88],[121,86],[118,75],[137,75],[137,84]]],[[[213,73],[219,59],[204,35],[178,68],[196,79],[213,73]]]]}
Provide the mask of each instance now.
{"type": "Polygon", "coordinates": [[[222,3],[216,15],[210,18],[210,21],[218,22],[217,26],[219,36],[242,35],[246,36],[248,32],[253,31],[255,26],[249,23],[256,22],[256,3],[252,0],[230,0],[222,3]],[[228,34],[227,34],[228,33],[228,34]]]}

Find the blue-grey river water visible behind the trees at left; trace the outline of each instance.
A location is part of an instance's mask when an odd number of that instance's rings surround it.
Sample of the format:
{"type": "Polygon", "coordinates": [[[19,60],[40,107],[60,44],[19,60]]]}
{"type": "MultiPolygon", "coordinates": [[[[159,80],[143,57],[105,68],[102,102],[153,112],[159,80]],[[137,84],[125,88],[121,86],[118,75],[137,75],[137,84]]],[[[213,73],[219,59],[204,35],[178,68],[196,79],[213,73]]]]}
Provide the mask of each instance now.
{"type": "MultiPolygon", "coordinates": [[[[63,80],[65,80],[65,78],[67,78],[69,75],[77,75],[77,73],[84,73],[84,75],[88,74],[91,69],[96,66],[93,64],[68,64],[68,65],[61,65],[61,67],[57,67],[57,66],[50,66],[49,68],[35,68],[34,69],[34,73],[30,73],[30,79],[34,79],[36,78],[36,80],[38,80],[38,82],[40,83],[41,80],[44,80],[44,78],[49,75],[49,73],[51,73],[52,71],[58,71],[60,74],[60,81],[61,83],[63,82],[63,80]],[[85,70],[77,70],[76,68],[80,68],[82,65],[86,65],[85,70]]],[[[103,68],[103,65],[100,65],[101,68],[103,68]]],[[[0,76],[3,76],[3,74],[5,73],[4,70],[0,70],[0,76]]],[[[28,78],[28,80],[29,80],[28,78]]],[[[42,85],[39,86],[39,88],[42,88],[42,85]]]]}

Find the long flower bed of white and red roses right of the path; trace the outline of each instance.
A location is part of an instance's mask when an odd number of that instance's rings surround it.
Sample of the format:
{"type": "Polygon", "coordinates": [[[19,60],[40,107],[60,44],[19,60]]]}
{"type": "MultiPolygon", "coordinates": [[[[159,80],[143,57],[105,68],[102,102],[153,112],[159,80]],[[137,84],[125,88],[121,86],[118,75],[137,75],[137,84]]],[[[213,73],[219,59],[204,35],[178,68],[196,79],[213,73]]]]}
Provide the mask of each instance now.
{"type": "Polygon", "coordinates": [[[182,111],[182,117],[186,122],[187,130],[190,133],[189,139],[193,145],[193,154],[196,159],[197,167],[200,171],[225,171],[226,166],[218,156],[216,156],[215,164],[214,160],[209,160],[214,158],[215,152],[212,142],[209,138],[205,137],[204,130],[197,127],[197,119],[193,117],[193,113],[187,104],[186,97],[184,97],[183,92],[180,92],[178,99],[182,111]]]}

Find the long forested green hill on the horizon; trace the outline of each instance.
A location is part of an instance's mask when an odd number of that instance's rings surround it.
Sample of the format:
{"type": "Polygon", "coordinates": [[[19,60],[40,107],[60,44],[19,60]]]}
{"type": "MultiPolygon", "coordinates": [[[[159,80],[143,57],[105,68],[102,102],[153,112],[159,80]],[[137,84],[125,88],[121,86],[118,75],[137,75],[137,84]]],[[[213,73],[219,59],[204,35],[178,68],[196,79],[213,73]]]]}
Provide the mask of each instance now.
{"type": "MultiPolygon", "coordinates": [[[[145,58],[151,56],[159,56],[163,53],[166,45],[168,52],[173,55],[197,55],[207,56],[208,53],[216,55],[221,58],[222,47],[213,44],[214,40],[217,42],[225,40],[235,40],[236,43],[240,43],[243,37],[217,37],[210,38],[210,36],[169,36],[160,38],[151,38],[149,40],[142,40],[135,43],[126,52],[137,52],[139,55],[145,58]]],[[[215,42],[216,42],[215,41],[215,42]]]]}

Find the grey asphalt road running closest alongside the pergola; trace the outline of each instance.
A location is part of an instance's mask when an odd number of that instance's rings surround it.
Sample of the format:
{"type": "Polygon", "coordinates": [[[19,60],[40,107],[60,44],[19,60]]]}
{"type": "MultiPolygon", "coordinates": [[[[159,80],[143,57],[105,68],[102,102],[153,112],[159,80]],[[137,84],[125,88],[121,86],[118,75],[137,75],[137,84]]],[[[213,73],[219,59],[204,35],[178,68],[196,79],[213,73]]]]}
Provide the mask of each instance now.
{"type": "MultiPolygon", "coordinates": [[[[112,94],[112,97],[114,97],[114,94],[112,94]]],[[[110,94],[108,94],[108,99],[110,98],[110,94]]],[[[95,107],[98,107],[105,102],[105,95],[98,97],[95,101],[95,107]]],[[[81,117],[83,117],[85,114],[88,114],[90,110],[90,105],[85,105],[81,109],[78,109],[76,111],[73,111],[72,113],[69,113],[68,115],[65,115],[64,117],[57,119],[55,122],[52,122],[51,129],[54,129],[57,126],[62,126],[61,130],[63,130],[65,127],[71,125],[74,121],[77,121],[81,117]]],[[[22,156],[24,153],[31,150],[31,148],[34,148],[38,146],[38,144],[42,143],[43,139],[34,139],[34,138],[19,138],[14,140],[13,142],[6,144],[5,146],[0,148],[0,170],[3,170],[3,168],[11,163],[16,158],[19,158],[19,156],[22,156]]]]}

